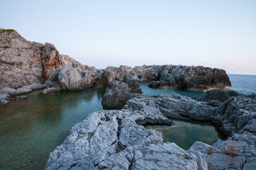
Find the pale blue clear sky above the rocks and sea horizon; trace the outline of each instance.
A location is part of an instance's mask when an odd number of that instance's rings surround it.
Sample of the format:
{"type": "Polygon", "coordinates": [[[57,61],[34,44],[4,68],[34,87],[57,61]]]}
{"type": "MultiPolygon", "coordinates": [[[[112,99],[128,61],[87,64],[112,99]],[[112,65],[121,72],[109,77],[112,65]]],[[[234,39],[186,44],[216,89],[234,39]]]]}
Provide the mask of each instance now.
{"type": "Polygon", "coordinates": [[[256,74],[256,1],[0,0],[0,28],[82,64],[203,65],[256,74]]]}

